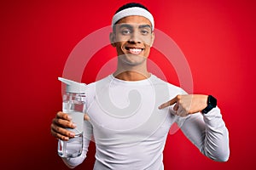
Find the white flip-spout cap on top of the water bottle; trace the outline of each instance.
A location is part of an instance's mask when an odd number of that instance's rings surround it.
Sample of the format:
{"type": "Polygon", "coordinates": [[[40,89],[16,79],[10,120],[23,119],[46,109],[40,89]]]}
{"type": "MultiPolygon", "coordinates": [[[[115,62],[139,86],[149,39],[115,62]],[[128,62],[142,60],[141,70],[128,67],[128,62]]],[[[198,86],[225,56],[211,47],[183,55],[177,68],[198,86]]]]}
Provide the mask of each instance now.
{"type": "Polygon", "coordinates": [[[58,80],[64,82],[67,85],[66,92],[74,94],[83,94],[86,90],[86,84],[81,82],[74,82],[72,80],[67,80],[62,77],[58,77],[58,80]]]}

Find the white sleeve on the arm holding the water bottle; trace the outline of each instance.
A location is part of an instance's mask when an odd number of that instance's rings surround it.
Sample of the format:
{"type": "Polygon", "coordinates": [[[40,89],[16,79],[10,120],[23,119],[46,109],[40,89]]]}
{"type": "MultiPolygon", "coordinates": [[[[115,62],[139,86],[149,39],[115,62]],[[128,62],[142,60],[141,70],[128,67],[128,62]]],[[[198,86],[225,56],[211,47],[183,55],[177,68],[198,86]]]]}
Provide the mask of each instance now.
{"type": "Polygon", "coordinates": [[[92,126],[90,122],[84,121],[84,133],[83,133],[83,150],[81,156],[75,158],[62,158],[67,167],[77,167],[86,158],[90,139],[92,138],[92,126]]]}

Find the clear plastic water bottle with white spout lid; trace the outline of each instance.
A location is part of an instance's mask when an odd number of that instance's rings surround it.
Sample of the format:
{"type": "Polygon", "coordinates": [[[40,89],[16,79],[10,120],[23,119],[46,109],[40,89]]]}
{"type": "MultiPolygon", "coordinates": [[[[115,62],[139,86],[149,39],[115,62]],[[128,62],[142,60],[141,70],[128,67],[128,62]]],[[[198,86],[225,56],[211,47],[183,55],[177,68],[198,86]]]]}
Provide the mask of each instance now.
{"type": "Polygon", "coordinates": [[[74,138],[68,141],[58,141],[58,155],[61,157],[77,157],[82,154],[83,150],[83,124],[85,112],[85,89],[86,85],[80,82],[73,82],[64,78],[58,78],[64,82],[66,93],[62,95],[62,111],[72,117],[76,128],[67,128],[67,130],[75,133],[74,138]]]}

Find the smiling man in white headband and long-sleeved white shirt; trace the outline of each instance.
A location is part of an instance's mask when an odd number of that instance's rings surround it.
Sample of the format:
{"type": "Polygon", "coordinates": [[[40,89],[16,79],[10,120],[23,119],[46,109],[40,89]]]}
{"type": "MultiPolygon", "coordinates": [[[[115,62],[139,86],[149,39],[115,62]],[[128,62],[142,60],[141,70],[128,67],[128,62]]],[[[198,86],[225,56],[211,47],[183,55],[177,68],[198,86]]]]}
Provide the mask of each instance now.
{"type": "MultiPolygon", "coordinates": [[[[154,42],[154,18],[148,9],[128,3],[114,14],[112,26],[109,37],[118,54],[117,70],[88,85],[83,152],[77,158],[62,158],[67,166],[84,161],[93,136],[94,169],[164,169],[162,151],[174,122],[202,154],[227,161],[229,134],[216,99],[186,94],[148,72],[154,42]]],[[[62,140],[73,138],[66,127],[75,125],[66,113],[58,112],[51,133],[62,140]]]]}

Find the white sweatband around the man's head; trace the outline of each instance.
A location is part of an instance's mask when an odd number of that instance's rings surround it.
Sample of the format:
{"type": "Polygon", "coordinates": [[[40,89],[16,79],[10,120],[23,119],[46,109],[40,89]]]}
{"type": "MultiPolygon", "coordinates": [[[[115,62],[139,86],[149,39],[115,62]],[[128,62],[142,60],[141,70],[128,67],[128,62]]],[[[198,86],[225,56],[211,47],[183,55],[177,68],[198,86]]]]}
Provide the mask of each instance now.
{"type": "Polygon", "coordinates": [[[150,14],[148,10],[140,7],[125,8],[124,10],[119,11],[117,14],[114,14],[112,19],[112,27],[117,21],[121,20],[122,18],[125,18],[126,16],[133,16],[133,15],[143,16],[147,18],[151,22],[152,31],[154,30],[153,15],[150,14]]]}

